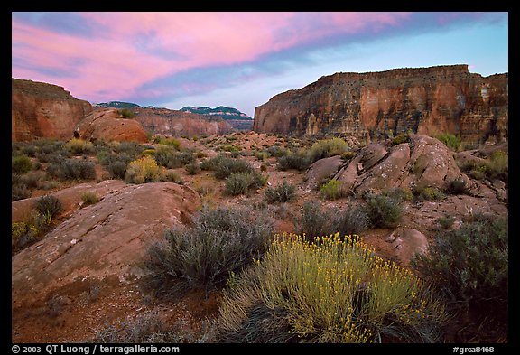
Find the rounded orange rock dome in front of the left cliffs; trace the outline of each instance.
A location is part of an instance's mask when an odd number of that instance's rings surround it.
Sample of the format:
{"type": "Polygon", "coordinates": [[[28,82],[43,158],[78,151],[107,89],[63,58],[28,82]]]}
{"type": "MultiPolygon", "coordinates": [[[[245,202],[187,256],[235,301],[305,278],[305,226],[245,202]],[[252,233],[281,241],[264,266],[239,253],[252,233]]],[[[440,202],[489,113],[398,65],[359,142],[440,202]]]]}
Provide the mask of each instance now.
{"type": "Polygon", "coordinates": [[[123,117],[116,108],[100,108],[90,113],[76,125],[74,137],[88,141],[148,142],[143,126],[135,119],[123,117]]]}

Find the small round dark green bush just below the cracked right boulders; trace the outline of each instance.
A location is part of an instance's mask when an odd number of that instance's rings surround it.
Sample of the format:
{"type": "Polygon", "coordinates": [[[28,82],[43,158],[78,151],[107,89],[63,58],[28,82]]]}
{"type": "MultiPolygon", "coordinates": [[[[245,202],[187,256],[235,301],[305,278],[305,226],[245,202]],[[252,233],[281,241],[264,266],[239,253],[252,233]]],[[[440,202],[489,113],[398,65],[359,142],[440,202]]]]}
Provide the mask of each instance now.
{"type": "Polygon", "coordinates": [[[385,195],[367,195],[365,208],[375,227],[392,228],[403,219],[402,201],[385,195]]]}

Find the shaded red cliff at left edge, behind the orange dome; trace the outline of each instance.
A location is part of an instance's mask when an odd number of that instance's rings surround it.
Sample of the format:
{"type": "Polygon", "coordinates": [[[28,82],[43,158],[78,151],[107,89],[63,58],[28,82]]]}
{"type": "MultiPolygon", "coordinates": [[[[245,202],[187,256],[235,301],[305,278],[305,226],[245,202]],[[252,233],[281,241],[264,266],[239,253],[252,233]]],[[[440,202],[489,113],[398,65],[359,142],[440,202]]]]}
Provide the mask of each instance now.
{"type": "Polygon", "coordinates": [[[73,98],[62,87],[32,80],[12,79],[11,138],[68,140],[74,126],[92,106],[73,98]]]}

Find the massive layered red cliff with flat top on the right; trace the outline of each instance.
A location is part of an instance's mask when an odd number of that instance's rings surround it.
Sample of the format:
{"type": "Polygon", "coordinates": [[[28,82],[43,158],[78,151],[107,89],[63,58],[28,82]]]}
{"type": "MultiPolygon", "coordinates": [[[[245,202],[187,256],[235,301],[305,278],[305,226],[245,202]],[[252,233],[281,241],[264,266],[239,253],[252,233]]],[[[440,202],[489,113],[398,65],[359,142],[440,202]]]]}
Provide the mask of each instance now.
{"type": "Polygon", "coordinates": [[[274,96],[255,109],[255,132],[341,133],[359,139],[411,130],[464,142],[507,138],[508,74],[482,77],[467,65],[336,73],[274,96]]]}

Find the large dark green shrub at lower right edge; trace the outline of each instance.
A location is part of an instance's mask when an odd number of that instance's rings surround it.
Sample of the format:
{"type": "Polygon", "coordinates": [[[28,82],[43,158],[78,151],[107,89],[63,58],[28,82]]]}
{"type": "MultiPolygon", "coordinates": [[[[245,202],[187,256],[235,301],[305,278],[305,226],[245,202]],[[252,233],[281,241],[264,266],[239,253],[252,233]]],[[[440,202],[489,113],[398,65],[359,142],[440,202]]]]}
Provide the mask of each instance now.
{"type": "Polygon", "coordinates": [[[460,324],[460,339],[498,341],[507,333],[508,218],[474,215],[434,238],[411,265],[436,286],[460,324]],[[497,336],[497,338],[486,338],[497,336]]]}

